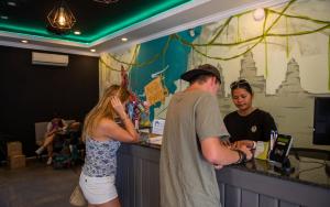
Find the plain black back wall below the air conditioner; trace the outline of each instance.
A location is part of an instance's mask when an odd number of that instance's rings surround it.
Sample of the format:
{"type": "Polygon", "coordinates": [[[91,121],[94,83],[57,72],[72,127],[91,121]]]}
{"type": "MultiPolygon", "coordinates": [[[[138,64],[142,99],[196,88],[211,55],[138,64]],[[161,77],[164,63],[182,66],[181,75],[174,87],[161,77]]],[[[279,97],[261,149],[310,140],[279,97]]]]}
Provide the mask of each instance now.
{"type": "Polygon", "coordinates": [[[82,121],[99,94],[98,57],[69,55],[67,67],[33,65],[33,51],[0,46],[0,135],[22,141],[28,156],[36,148],[34,122],[55,112],[82,121]]]}

